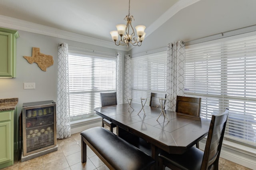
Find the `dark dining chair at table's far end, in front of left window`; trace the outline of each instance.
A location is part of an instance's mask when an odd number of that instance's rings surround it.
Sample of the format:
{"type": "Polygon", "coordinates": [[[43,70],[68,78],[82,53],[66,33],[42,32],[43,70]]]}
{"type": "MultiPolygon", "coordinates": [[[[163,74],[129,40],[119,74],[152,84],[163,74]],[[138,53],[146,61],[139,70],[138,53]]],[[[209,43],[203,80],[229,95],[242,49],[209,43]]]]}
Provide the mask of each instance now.
{"type": "MultiPolygon", "coordinates": [[[[101,101],[101,107],[117,105],[116,92],[100,93],[100,101],[101,101]]],[[[110,127],[111,132],[113,132],[113,128],[116,127],[114,123],[102,117],[102,127],[104,127],[104,125],[107,125],[108,127],[110,127]]]]}

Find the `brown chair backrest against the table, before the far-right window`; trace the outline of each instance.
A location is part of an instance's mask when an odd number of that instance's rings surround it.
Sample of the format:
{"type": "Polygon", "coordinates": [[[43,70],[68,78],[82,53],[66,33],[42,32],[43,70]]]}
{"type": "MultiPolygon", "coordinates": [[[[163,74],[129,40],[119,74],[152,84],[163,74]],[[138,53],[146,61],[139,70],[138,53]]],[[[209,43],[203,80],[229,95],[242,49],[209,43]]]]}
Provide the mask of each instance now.
{"type": "Polygon", "coordinates": [[[201,98],[177,96],[176,112],[200,117],[201,98]]]}

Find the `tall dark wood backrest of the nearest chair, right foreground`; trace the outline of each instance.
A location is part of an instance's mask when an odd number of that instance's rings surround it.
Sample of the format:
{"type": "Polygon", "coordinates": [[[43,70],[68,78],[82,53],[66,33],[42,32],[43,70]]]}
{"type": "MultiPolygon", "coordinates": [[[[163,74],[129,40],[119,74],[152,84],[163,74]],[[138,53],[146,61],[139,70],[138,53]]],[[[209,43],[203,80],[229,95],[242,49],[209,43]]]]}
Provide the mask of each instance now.
{"type": "Polygon", "coordinates": [[[220,115],[212,115],[201,170],[218,169],[220,150],[228,119],[229,109],[220,115]]]}

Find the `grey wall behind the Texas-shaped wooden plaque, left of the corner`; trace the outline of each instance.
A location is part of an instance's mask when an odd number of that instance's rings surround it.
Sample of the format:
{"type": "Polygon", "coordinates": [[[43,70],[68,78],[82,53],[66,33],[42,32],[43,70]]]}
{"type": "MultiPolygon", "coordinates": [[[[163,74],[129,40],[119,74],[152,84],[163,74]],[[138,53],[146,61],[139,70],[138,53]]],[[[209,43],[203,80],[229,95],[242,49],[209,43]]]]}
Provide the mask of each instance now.
{"type": "Polygon", "coordinates": [[[127,53],[20,30],[18,32],[20,37],[16,43],[16,78],[0,78],[0,99],[18,97],[17,114],[14,115],[14,141],[18,140],[18,116],[23,103],[46,100],[57,102],[58,43],[66,42],[69,46],[108,53],[121,52],[123,58],[127,53]],[[39,47],[41,53],[52,55],[54,64],[42,71],[37,63],[28,63],[23,56],[31,56],[32,47],[39,47]],[[23,83],[36,83],[36,89],[24,89],[23,83]]]}

